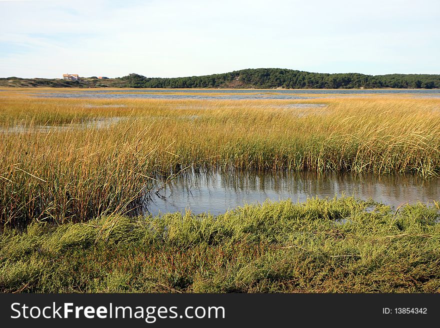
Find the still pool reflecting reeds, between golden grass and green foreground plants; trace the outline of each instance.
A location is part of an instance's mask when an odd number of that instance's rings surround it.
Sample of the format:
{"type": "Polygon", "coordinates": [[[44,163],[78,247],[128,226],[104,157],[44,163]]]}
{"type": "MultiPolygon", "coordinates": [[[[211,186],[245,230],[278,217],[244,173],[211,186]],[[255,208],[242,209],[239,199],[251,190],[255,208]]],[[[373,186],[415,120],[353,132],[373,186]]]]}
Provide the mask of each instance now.
{"type": "MultiPolygon", "coordinates": [[[[157,190],[158,187],[155,188],[157,190]]],[[[153,191],[155,191],[153,190],[153,191]]],[[[290,198],[304,202],[310,197],[335,195],[369,198],[396,209],[409,203],[432,204],[440,197],[440,178],[422,179],[413,175],[355,176],[313,173],[191,173],[176,177],[157,194],[150,195],[145,212],[209,212],[220,214],[244,204],[290,198]]]]}

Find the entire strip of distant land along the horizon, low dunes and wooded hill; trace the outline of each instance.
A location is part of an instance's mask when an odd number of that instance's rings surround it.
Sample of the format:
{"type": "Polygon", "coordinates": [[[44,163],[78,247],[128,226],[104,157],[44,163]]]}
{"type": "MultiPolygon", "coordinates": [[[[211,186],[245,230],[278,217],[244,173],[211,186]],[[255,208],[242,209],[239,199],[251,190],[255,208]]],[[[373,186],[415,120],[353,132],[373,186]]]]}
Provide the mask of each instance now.
{"type": "Polygon", "coordinates": [[[229,73],[187,77],[145,77],[139,74],[109,79],[0,78],[0,87],[127,87],[127,88],[256,88],[256,89],[351,89],[440,88],[440,74],[311,73],[281,68],[242,69],[229,73]]]}

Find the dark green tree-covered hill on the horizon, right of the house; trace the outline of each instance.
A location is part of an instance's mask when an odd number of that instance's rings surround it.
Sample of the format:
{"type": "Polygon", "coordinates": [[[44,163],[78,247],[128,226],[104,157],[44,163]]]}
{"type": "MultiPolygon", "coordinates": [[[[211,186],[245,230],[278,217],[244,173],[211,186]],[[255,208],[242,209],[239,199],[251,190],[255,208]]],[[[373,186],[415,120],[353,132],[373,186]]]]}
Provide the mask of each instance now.
{"type": "Polygon", "coordinates": [[[223,74],[175,78],[150,78],[129,74],[121,78],[134,88],[440,88],[440,75],[310,73],[292,69],[243,69],[223,74]]]}

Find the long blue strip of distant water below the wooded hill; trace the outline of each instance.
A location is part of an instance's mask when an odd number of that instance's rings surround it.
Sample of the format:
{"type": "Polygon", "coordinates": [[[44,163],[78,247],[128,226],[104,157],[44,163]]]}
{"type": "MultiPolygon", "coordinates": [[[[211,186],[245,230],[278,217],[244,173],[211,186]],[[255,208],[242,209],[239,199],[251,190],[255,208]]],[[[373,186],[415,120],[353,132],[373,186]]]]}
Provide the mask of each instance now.
{"type": "Polygon", "coordinates": [[[147,98],[147,99],[202,99],[202,100],[245,100],[245,99],[309,99],[316,95],[359,95],[359,94],[409,94],[422,97],[440,97],[436,89],[121,89],[121,90],[75,90],[72,92],[37,92],[33,95],[54,98],[147,98]],[[206,93],[206,95],[203,95],[206,93]]]}

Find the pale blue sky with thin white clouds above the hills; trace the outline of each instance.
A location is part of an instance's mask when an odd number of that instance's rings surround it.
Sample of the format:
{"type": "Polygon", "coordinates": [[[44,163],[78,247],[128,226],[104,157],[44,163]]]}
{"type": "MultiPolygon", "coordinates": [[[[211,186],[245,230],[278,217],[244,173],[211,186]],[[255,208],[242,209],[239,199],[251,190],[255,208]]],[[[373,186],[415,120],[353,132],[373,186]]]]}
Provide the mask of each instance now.
{"type": "Polygon", "coordinates": [[[0,0],[0,77],[440,74],[439,0],[0,0]]]}

